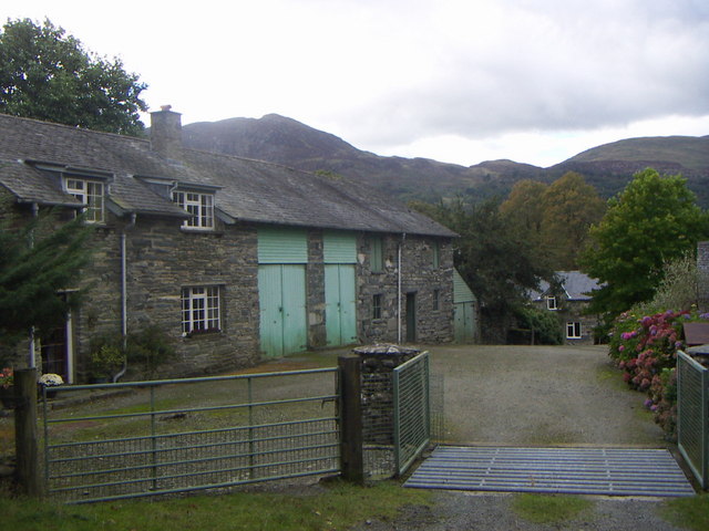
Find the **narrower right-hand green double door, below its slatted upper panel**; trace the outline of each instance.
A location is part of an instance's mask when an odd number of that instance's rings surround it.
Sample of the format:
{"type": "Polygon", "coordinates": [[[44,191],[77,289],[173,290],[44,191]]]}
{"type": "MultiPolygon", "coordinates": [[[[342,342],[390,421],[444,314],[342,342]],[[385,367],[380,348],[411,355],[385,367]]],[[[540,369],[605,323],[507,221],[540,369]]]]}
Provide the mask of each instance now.
{"type": "Polygon", "coordinates": [[[328,345],[357,342],[354,266],[325,266],[325,322],[328,345]]]}

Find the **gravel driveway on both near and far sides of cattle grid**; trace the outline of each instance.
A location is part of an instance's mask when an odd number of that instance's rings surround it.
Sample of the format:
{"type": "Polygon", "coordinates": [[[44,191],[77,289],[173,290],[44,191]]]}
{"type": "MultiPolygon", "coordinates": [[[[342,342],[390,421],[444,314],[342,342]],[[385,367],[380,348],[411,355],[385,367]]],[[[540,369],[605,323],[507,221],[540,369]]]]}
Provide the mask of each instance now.
{"type": "MultiPolygon", "coordinates": [[[[500,446],[670,447],[609,364],[606,347],[432,347],[433,373],[445,382],[448,438],[500,446]]],[[[670,447],[670,449],[672,449],[670,447]]],[[[511,509],[515,494],[433,492],[433,507],[410,507],[389,530],[645,530],[678,531],[659,516],[661,499],[588,497],[592,509],[572,521],[536,524],[511,509]]]]}

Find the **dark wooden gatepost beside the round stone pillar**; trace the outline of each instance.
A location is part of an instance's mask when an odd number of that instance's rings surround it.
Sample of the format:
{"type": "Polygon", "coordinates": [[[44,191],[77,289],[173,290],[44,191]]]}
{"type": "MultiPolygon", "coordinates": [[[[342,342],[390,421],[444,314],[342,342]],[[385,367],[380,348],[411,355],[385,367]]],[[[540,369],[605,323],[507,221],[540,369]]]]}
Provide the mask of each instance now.
{"type": "Polygon", "coordinates": [[[364,480],[362,454],[361,361],[357,355],[338,358],[340,381],[340,464],[342,478],[361,483],[364,480]]]}

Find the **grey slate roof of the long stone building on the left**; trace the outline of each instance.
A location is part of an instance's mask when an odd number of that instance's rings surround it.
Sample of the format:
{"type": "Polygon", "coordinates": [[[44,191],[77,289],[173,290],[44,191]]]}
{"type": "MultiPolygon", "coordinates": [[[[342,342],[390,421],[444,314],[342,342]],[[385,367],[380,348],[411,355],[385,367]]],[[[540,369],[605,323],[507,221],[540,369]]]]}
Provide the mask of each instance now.
{"type": "Polygon", "coordinates": [[[151,150],[146,138],[81,129],[0,114],[0,185],[22,202],[76,205],[38,169],[110,175],[110,200],[122,211],[184,216],[146,184],[173,179],[216,189],[223,217],[263,223],[455,237],[448,228],[347,178],[274,163],[184,149],[182,160],[151,150]]]}

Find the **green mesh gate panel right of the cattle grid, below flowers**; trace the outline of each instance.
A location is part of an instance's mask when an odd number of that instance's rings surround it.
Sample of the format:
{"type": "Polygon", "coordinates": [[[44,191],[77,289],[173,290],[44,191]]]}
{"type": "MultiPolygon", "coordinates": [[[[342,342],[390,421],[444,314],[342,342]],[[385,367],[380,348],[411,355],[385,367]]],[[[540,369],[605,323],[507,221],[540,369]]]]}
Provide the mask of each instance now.
{"type": "Polygon", "coordinates": [[[677,353],[677,445],[702,489],[709,488],[709,369],[677,353]]]}

